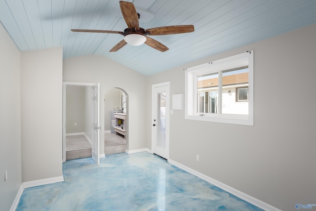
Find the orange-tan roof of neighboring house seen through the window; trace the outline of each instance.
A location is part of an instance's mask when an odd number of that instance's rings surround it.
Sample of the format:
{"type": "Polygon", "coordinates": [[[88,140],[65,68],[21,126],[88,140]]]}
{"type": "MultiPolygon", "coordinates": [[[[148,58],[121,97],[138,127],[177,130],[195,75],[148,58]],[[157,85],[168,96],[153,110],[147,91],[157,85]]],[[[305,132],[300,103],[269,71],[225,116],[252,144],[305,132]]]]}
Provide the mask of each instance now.
{"type": "MultiPolygon", "coordinates": [[[[223,76],[223,86],[232,84],[248,83],[248,73],[239,73],[236,75],[223,76]]],[[[197,82],[197,88],[207,88],[218,86],[218,78],[206,79],[197,82]]]]}

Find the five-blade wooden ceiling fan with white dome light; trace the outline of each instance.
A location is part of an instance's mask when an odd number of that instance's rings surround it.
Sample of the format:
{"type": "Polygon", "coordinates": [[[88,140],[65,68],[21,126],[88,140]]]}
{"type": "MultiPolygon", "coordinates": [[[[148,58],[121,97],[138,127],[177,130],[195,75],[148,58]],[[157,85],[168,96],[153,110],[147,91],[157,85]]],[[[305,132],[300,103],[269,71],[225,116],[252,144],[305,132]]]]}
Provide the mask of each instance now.
{"type": "Polygon", "coordinates": [[[173,35],[194,32],[193,25],[177,25],[177,26],[162,26],[152,29],[143,29],[139,27],[138,19],[140,15],[136,12],[135,6],[131,2],[119,1],[120,10],[122,12],[123,18],[128,26],[124,32],[119,31],[108,31],[108,30],[90,30],[90,29],[72,29],[72,32],[92,32],[92,33],[110,33],[110,34],[120,34],[124,36],[124,39],[118,42],[110,52],[118,51],[120,48],[125,46],[127,43],[131,45],[141,45],[143,43],[160,50],[162,52],[168,50],[169,48],[147,35],[173,35]]]}

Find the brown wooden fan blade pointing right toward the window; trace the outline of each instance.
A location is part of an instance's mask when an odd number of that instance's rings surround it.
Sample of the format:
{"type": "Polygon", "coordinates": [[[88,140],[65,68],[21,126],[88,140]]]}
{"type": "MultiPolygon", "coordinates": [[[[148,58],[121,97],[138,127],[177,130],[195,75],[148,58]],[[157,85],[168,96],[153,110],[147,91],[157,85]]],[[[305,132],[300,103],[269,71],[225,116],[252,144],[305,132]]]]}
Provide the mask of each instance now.
{"type": "Polygon", "coordinates": [[[151,32],[149,35],[174,35],[181,33],[194,32],[193,25],[178,25],[178,26],[162,26],[152,29],[146,29],[146,32],[151,32]]]}

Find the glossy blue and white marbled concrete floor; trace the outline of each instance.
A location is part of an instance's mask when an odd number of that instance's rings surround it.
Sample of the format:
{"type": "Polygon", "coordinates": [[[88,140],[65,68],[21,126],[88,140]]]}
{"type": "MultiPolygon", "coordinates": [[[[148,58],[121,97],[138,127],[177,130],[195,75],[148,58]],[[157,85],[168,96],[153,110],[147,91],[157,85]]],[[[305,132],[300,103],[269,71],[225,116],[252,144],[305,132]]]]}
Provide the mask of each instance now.
{"type": "Polygon", "coordinates": [[[147,152],[67,161],[63,175],[25,189],[17,211],[262,211],[147,152]]]}

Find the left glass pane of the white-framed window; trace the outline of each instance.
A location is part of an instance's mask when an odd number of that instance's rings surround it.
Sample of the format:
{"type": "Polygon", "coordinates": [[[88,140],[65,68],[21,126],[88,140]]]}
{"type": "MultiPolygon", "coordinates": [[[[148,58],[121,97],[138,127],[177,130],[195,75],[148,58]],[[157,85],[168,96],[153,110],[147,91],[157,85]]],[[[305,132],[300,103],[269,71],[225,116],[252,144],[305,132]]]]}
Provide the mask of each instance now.
{"type": "Polygon", "coordinates": [[[197,112],[217,113],[218,73],[197,76],[197,112]]]}

